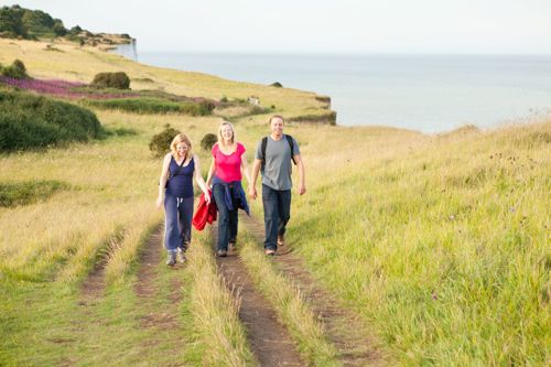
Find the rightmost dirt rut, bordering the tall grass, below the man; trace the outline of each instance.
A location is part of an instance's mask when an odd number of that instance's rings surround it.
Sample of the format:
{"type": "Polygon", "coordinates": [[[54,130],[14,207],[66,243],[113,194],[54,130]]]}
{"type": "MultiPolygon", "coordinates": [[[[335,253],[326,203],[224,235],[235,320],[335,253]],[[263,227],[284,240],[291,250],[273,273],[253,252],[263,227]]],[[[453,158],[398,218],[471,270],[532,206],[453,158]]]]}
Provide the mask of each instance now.
{"type": "MultiPolygon", "coordinates": [[[[247,226],[248,231],[259,242],[263,242],[263,223],[246,215],[240,216],[239,222],[247,226]]],[[[337,348],[338,360],[344,366],[388,365],[375,338],[369,336],[371,333],[365,322],[352,311],[339,306],[339,302],[315,282],[302,259],[292,253],[292,244],[279,248],[273,261],[280,271],[301,289],[322,321],[328,341],[337,348]]]]}

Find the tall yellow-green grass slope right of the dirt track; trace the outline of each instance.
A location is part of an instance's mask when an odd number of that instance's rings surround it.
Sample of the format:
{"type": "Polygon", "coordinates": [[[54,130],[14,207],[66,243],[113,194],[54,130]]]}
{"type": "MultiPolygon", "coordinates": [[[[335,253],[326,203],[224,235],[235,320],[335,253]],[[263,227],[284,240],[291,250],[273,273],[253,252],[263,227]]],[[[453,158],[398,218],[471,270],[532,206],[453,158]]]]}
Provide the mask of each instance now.
{"type": "Polygon", "coordinates": [[[310,192],[289,238],[310,267],[404,366],[543,366],[551,122],[372,132],[306,139],[310,192]]]}

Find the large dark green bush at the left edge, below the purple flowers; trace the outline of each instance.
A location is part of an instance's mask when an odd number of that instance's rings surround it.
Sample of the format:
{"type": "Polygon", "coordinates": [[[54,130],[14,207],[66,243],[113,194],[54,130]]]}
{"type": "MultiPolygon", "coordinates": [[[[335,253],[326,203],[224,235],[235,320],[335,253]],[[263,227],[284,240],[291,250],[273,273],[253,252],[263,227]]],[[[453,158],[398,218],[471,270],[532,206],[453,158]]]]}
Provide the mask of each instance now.
{"type": "Polygon", "coordinates": [[[99,138],[91,111],[22,91],[0,90],[0,152],[57,145],[99,138]]]}

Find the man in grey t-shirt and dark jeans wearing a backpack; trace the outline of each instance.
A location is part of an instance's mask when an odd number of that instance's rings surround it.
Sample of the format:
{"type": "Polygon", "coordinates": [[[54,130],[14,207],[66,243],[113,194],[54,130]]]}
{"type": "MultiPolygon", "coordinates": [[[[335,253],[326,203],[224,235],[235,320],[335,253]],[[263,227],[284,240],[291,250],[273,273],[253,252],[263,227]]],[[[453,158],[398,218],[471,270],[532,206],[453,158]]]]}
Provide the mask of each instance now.
{"type": "Polygon", "coordinates": [[[299,195],[306,192],[304,163],[299,144],[292,137],[283,134],[283,117],[276,115],[270,118],[271,134],[257,145],[249,186],[249,196],[257,198],[256,183],[258,172],[262,169],[264,251],[270,256],[276,255],[278,245],[284,245],[285,226],[291,217],[291,160],[299,168],[299,195]]]}

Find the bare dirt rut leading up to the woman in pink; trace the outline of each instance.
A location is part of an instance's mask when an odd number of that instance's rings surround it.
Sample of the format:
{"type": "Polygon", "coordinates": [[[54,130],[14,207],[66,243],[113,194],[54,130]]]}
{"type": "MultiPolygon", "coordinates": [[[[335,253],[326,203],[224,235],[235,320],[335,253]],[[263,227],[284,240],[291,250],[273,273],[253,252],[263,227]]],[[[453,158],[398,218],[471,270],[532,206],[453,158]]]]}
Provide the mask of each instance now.
{"type": "MultiPolygon", "coordinates": [[[[217,227],[213,226],[214,244],[217,227]]],[[[239,319],[247,328],[251,352],[260,366],[305,366],[295,350],[289,332],[276,319],[276,311],[255,289],[252,280],[235,251],[217,258],[216,263],[230,290],[239,290],[239,319]]]]}

